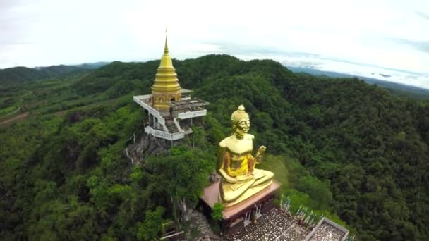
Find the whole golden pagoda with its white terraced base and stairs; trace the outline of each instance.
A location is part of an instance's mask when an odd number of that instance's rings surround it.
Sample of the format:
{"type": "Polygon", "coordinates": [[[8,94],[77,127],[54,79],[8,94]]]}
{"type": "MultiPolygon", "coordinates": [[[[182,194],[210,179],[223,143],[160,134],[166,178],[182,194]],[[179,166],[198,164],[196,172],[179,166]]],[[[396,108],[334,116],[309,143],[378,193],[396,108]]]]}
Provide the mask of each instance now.
{"type": "Polygon", "coordinates": [[[192,98],[192,90],[179,85],[176,69],[169,56],[167,36],[165,37],[164,54],[152,85],[152,94],[136,95],[135,103],[147,113],[145,133],[157,138],[171,141],[183,139],[193,132],[194,125],[204,126],[207,101],[192,98]]]}

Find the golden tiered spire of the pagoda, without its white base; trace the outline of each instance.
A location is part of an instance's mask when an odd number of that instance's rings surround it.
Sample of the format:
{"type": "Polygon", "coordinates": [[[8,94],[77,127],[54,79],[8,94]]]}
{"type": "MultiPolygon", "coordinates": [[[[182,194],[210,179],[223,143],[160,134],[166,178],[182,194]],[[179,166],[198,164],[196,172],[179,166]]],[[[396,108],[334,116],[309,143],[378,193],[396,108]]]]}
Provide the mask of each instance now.
{"type": "Polygon", "coordinates": [[[181,87],[177,78],[176,69],[169,55],[167,36],[165,37],[164,55],[155,75],[155,83],[152,86],[152,106],[155,109],[169,109],[170,101],[181,100],[181,87]]]}

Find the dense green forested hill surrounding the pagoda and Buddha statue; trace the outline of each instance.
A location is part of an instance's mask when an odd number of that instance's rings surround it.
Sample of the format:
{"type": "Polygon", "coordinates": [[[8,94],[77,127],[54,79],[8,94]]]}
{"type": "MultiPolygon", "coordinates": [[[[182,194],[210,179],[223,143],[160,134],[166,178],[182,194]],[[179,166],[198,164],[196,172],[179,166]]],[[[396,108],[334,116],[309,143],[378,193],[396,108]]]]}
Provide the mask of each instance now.
{"type": "Polygon", "coordinates": [[[270,60],[174,61],[181,86],[210,102],[205,130],[195,130],[195,147],[133,167],[123,149],[144,116],[132,95],[150,93],[158,65],[114,62],[61,92],[50,82],[28,100],[40,103],[25,107],[32,118],[0,130],[0,237],[156,237],[159,223],[175,218],[176,201],[195,203],[207,185],[214,147],[243,104],[255,146],[266,144],[275,155],[267,163],[287,169],[293,204],[338,214],[361,240],[429,240],[428,101],[270,60]],[[71,96],[85,102],[69,106],[71,96]]]}

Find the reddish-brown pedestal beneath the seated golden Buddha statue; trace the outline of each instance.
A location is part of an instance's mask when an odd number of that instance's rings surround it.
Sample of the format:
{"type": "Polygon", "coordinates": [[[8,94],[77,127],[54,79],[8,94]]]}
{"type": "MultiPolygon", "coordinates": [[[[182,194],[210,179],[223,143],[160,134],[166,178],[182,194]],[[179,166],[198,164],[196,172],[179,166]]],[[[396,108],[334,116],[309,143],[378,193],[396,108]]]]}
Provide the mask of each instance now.
{"type": "MultiPolygon", "coordinates": [[[[238,232],[246,225],[272,209],[274,195],[279,190],[280,184],[272,181],[272,184],[257,194],[254,194],[243,202],[225,207],[222,212],[221,230],[224,236],[238,232]]],[[[205,187],[201,197],[205,206],[205,213],[210,214],[215,203],[219,202],[219,181],[205,187]]]]}

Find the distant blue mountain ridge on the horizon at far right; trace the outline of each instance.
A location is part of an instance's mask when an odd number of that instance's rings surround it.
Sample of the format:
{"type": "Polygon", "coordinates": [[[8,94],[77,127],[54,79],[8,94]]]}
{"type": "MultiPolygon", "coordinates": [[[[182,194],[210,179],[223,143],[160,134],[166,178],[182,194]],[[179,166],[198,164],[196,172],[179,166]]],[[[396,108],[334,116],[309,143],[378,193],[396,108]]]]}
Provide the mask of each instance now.
{"type": "MultiPolygon", "coordinates": [[[[290,67],[290,66],[286,66],[286,67],[294,73],[308,73],[310,75],[326,76],[330,78],[359,78],[361,80],[364,80],[368,84],[373,84],[385,89],[389,89],[394,94],[399,94],[407,97],[414,97],[418,99],[429,99],[429,89],[423,89],[423,88],[419,88],[411,85],[404,85],[404,84],[399,84],[397,82],[378,80],[375,78],[368,78],[368,77],[359,76],[359,75],[349,75],[349,74],[337,73],[332,71],[322,71],[322,70],[317,70],[315,68],[290,67]]],[[[383,74],[379,74],[379,75],[383,77],[391,77],[390,75],[383,75],[383,74]]]]}

